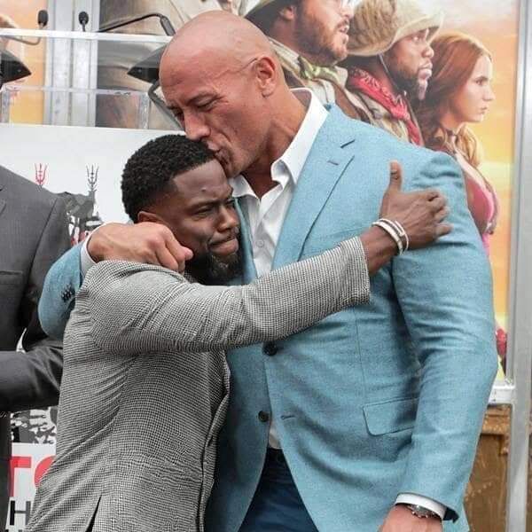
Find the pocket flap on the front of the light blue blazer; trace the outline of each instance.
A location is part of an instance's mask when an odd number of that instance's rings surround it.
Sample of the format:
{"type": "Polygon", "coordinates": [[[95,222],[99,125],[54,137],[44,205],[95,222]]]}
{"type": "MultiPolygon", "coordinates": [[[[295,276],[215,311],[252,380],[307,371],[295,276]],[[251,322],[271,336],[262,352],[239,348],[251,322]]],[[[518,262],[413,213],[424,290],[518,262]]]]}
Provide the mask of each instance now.
{"type": "Polygon", "coordinates": [[[364,418],[368,432],[374,436],[412,428],[416,422],[418,397],[393,399],[384,403],[365,404],[364,418]]]}

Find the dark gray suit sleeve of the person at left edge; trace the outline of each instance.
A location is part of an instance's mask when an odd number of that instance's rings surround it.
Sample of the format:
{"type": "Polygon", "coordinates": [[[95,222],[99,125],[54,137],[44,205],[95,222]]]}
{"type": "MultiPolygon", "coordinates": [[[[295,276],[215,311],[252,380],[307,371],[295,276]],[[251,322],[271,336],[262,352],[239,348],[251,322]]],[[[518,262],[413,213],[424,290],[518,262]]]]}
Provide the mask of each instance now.
{"type": "Polygon", "coordinates": [[[20,303],[20,319],[26,327],[22,337],[25,352],[0,352],[1,411],[20,411],[58,403],[63,369],[62,346],[43,332],[37,316],[37,301],[46,271],[68,246],[66,211],[58,198],[43,227],[20,303]]]}

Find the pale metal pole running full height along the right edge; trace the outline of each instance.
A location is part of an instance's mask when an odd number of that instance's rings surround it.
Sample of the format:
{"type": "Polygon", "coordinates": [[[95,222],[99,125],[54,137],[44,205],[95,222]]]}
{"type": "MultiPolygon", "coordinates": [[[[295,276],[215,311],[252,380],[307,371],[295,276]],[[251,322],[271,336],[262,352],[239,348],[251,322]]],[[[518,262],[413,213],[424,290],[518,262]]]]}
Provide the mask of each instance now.
{"type": "Polygon", "coordinates": [[[507,532],[526,532],[528,438],[532,383],[532,6],[520,5],[510,276],[512,433],[508,467],[507,532]]]}

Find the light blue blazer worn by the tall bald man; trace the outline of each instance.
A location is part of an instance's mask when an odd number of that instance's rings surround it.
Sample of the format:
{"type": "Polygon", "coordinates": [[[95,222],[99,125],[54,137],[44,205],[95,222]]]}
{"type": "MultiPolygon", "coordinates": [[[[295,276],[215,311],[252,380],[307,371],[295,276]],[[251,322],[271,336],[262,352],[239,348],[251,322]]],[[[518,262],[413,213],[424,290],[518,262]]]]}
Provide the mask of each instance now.
{"type": "MultiPolygon", "coordinates": [[[[274,346],[228,353],[231,400],[220,435],[207,530],[237,532],[275,419],[293,478],[323,532],[375,532],[398,493],[446,505],[444,530],[468,530],[462,500],[497,372],[489,263],[450,157],[348,119],[336,106],[302,170],[274,268],[318,254],[379,217],[389,161],[404,189],[435,187],[454,231],[396,257],[372,278],[372,302],[274,346]],[[263,419],[263,417],[261,416],[263,419]]],[[[242,218],[243,220],[243,218],[242,218]]],[[[245,223],[244,278],[255,276],[245,223]]],[[[40,317],[60,333],[80,283],[79,250],[51,270],[40,317]],[[63,301],[59,295],[63,292],[63,301]]]]}

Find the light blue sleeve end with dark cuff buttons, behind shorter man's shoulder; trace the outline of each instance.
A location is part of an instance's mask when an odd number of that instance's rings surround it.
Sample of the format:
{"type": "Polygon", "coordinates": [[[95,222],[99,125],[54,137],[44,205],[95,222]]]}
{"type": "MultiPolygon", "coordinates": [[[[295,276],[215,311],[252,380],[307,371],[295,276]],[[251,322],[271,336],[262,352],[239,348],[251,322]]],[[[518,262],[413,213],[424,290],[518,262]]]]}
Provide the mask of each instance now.
{"type": "Polygon", "coordinates": [[[44,279],[39,320],[43,331],[51,338],[63,338],[66,322],[74,309],[75,294],[82,286],[81,247],[82,244],[78,244],[60,256],[44,279]]]}

